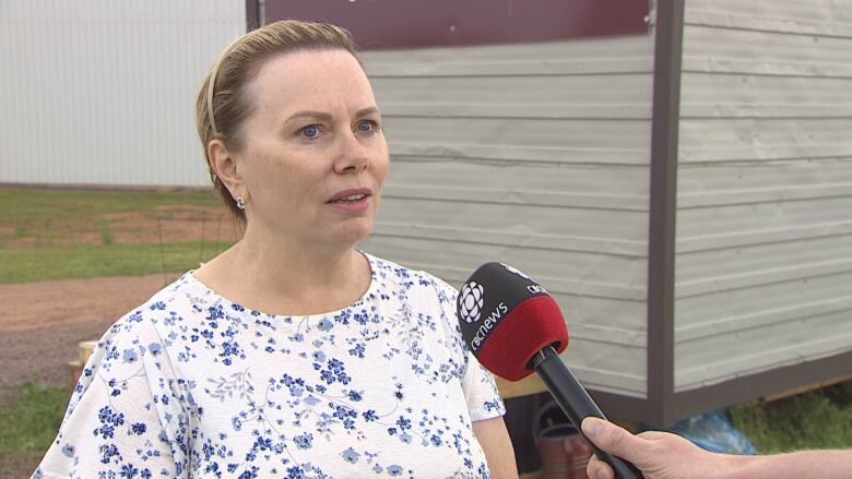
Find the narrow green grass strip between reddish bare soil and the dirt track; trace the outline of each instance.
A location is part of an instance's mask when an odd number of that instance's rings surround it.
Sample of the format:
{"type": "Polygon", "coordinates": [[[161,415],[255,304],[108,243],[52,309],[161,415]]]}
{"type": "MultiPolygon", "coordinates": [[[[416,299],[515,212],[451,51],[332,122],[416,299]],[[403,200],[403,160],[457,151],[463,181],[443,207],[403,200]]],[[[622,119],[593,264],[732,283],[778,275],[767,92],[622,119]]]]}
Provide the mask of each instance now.
{"type": "Polygon", "coordinates": [[[198,267],[229,243],[186,241],[137,244],[64,244],[0,250],[0,284],[48,279],[141,276],[198,267]]]}

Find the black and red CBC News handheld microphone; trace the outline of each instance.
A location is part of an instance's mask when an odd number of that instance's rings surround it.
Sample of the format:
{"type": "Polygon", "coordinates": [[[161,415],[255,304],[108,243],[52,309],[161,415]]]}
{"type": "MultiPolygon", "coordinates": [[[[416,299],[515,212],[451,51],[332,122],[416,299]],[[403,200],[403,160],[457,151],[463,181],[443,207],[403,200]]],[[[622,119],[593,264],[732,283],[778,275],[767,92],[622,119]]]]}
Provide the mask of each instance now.
{"type": "MultiPolygon", "coordinates": [[[[488,371],[508,381],[539,373],[581,434],[584,418],[606,419],[559,358],[569,340],[565,319],[547,290],[531,277],[508,264],[483,264],[462,286],[457,308],[464,342],[488,371]]],[[[617,479],[644,478],[632,464],[587,441],[617,479]]]]}

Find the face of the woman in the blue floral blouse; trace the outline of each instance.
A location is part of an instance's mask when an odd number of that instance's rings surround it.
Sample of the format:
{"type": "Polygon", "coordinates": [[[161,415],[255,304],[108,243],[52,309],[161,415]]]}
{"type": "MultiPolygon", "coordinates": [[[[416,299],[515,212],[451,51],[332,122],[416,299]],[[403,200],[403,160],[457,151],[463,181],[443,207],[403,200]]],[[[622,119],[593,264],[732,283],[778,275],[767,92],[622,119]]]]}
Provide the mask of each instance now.
{"type": "Polygon", "coordinates": [[[274,57],[247,94],[255,111],[235,160],[248,228],[308,246],[351,247],[366,237],[388,172],[388,144],[357,60],[345,50],[274,57]]]}

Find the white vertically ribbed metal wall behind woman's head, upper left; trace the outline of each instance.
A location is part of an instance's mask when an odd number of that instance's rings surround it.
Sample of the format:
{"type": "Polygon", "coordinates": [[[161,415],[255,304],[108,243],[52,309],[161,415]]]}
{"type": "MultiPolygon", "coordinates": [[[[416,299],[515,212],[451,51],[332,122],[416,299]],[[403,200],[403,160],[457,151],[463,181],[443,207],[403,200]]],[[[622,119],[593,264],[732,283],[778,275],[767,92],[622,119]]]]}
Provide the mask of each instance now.
{"type": "Polygon", "coordinates": [[[0,2],[0,182],[208,184],[194,95],[245,9],[0,2]]]}

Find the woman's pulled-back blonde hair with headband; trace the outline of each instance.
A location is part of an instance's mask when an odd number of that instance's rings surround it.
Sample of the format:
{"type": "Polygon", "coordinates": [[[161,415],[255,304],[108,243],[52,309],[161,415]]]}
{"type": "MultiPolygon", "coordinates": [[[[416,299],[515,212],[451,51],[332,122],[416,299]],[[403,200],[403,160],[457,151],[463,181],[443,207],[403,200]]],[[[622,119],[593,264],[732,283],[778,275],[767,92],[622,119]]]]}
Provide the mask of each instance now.
{"type": "Polygon", "coordinates": [[[244,221],[246,214],[216,178],[208,145],[213,140],[222,140],[230,148],[242,148],[240,127],[255,108],[252,98],[246,94],[246,85],[271,58],[304,50],[346,50],[358,59],[352,35],[346,29],[327,23],[284,20],[234,40],[213,63],[199,88],[196,127],[210,178],[228,208],[244,221]]]}

